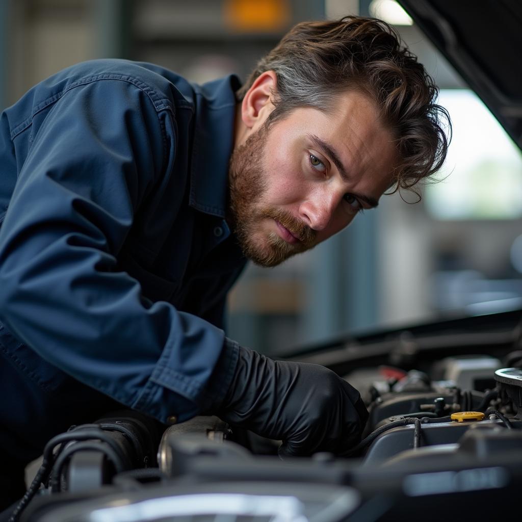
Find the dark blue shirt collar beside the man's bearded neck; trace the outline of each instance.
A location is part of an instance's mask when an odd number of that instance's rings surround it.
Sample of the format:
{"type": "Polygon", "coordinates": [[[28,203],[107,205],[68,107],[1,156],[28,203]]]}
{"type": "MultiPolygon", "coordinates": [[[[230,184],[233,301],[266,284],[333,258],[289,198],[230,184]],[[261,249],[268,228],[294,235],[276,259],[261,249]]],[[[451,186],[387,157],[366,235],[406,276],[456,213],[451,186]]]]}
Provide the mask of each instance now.
{"type": "Polygon", "coordinates": [[[235,91],[239,78],[229,75],[195,86],[195,129],[189,204],[212,216],[225,217],[228,171],[234,140],[235,91]]]}

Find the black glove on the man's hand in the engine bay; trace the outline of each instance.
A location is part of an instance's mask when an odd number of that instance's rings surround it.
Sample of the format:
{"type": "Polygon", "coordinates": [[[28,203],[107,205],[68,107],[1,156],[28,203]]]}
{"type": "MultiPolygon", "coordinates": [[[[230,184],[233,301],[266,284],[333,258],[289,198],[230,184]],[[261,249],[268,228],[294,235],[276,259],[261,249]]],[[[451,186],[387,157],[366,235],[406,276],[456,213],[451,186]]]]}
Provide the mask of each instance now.
{"type": "Polygon", "coordinates": [[[272,361],[247,348],[240,348],[218,415],[283,441],[281,457],[347,450],[361,440],[368,418],[359,392],[333,371],[272,361]]]}

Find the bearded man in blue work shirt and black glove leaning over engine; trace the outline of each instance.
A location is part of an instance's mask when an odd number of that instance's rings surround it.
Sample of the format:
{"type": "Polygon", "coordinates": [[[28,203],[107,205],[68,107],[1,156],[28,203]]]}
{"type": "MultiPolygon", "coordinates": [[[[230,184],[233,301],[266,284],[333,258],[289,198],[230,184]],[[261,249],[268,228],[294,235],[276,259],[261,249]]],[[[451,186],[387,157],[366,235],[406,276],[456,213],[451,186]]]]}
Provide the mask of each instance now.
{"type": "Polygon", "coordinates": [[[360,440],[357,390],[227,338],[248,259],[275,266],[440,168],[437,89],[384,22],[300,23],[241,86],[81,63],[0,119],[0,484],[122,405],[216,414],[280,455],[360,440]]]}

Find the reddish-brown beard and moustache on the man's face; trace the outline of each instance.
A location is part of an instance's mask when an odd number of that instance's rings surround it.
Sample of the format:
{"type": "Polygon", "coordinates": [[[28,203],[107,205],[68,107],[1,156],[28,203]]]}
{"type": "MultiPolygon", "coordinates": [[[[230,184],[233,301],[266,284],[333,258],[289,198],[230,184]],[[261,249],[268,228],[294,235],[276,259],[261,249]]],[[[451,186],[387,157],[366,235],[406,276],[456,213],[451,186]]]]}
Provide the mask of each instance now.
{"type": "Polygon", "coordinates": [[[234,150],[230,158],[230,216],[232,229],[243,254],[256,265],[272,267],[289,257],[315,246],[316,233],[286,210],[270,206],[263,199],[267,192],[264,153],[268,139],[265,124],[249,136],[244,145],[234,150]],[[267,219],[279,222],[294,236],[289,243],[276,232],[263,233],[261,225],[267,219]]]}

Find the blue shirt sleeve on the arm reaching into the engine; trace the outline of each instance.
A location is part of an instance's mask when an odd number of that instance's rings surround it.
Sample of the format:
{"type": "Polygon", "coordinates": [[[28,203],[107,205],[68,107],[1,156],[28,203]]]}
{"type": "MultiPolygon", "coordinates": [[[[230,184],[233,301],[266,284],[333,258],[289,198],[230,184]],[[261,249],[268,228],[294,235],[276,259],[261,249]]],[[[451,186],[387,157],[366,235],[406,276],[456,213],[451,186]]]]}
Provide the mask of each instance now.
{"type": "Polygon", "coordinates": [[[0,229],[6,326],[78,381],[162,422],[218,404],[238,353],[222,330],[151,302],[118,269],[133,217],[175,154],[174,129],[172,113],[131,82],[70,89],[39,126],[0,229]]]}

